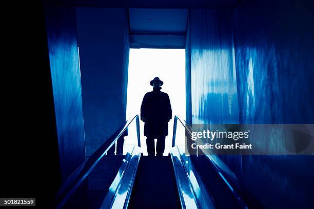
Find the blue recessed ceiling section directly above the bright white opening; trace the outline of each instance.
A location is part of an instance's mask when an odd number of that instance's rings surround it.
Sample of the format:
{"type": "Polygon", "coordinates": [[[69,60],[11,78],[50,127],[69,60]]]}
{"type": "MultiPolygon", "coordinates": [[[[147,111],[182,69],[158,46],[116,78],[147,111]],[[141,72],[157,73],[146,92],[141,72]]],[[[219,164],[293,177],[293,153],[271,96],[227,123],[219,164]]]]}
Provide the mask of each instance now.
{"type": "Polygon", "coordinates": [[[185,48],[188,9],[129,9],[131,48],[185,48]]]}

